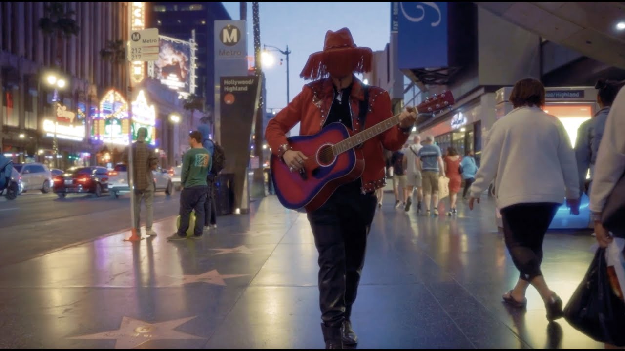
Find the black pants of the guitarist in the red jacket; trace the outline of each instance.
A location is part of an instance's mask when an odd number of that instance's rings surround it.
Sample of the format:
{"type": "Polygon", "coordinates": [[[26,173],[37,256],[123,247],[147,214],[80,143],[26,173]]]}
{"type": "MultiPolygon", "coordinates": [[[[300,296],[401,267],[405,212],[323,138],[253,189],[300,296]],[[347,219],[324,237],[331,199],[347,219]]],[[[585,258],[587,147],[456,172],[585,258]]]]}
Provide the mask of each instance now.
{"type": "Polygon", "coordinates": [[[339,187],[326,204],[308,213],[319,252],[319,307],[327,327],[351,316],[364,265],[377,199],[361,194],[359,185],[358,180],[339,187]]]}

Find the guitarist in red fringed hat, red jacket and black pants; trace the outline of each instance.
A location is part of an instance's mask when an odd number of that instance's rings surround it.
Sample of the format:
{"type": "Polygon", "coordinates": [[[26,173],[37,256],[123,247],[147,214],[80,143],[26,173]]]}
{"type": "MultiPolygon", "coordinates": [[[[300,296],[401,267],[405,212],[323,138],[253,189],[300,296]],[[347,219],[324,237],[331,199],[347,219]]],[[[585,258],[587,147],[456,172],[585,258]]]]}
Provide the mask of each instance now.
{"type": "MultiPolygon", "coordinates": [[[[301,122],[302,136],[316,134],[341,122],[354,132],[392,117],[391,98],[379,87],[365,87],[354,72],[371,71],[372,52],[357,47],[349,29],[327,31],[323,51],[312,54],[300,76],[317,79],[306,84],[289,105],[269,121],[266,139],[271,150],[293,171],[306,155],[289,146],[286,133],[301,122]],[[364,112],[362,124],[361,106],[364,112]]],[[[383,147],[398,150],[406,143],[416,112],[401,113],[392,127],[362,144],[365,166],[362,176],[339,187],[319,209],[308,212],[319,252],[319,305],[326,349],[356,345],[350,317],[360,281],[367,234],[377,205],[375,190],[384,187],[383,147]]]]}

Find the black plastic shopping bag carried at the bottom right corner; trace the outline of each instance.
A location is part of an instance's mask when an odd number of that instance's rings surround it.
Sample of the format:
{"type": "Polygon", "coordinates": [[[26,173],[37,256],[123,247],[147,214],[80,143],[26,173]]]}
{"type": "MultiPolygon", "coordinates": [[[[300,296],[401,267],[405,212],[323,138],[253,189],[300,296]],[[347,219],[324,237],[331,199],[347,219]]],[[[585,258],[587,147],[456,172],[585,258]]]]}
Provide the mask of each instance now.
{"type": "Polygon", "coordinates": [[[598,342],[625,346],[625,303],[612,292],[606,249],[597,249],[586,276],[564,307],[564,318],[598,342]]]}

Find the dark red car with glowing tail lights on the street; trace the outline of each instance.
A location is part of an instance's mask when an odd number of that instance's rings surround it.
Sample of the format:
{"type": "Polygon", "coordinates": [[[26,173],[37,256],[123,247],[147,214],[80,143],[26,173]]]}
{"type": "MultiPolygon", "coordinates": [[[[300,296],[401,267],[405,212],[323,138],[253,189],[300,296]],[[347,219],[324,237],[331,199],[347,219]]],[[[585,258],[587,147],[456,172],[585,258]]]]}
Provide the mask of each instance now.
{"type": "Polygon", "coordinates": [[[109,190],[109,175],[105,167],[73,167],[54,177],[54,192],[63,199],[69,193],[91,193],[100,197],[109,190]]]}

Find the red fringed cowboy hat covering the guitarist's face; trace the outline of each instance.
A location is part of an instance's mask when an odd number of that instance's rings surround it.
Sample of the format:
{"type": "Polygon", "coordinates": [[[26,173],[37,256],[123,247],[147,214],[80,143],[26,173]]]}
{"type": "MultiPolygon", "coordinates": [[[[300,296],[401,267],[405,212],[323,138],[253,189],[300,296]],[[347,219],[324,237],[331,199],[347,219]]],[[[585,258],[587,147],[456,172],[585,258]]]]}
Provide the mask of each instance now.
{"type": "Polygon", "coordinates": [[[345,77],[353,72],[371,71],[373,52],[369,47],[357,47],[349,29],[327,31],[323,51],[308,57],[299,74],[304,79],[320,79],[327,75],[345,77]]]}

